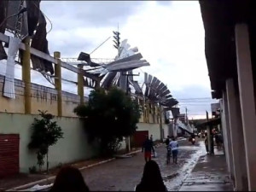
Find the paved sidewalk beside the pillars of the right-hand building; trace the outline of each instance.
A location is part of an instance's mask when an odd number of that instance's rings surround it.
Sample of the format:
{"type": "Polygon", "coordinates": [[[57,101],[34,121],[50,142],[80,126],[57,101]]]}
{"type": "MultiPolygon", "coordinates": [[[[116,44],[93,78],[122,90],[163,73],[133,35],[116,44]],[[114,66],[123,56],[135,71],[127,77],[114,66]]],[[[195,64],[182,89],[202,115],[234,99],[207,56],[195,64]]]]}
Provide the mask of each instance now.
{"type": "Polygon", "coordinates": [[[223,151],[201,155],[179,191],[233,191],[223,151]]]}

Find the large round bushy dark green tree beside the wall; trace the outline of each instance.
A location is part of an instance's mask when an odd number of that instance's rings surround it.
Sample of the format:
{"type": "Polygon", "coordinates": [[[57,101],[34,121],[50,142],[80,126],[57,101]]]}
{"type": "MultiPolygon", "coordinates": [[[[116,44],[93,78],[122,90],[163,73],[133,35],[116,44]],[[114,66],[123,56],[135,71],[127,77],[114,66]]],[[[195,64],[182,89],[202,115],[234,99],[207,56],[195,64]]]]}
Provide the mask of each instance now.
{"type": "Polygon", "coordinates": [[[90,142],[99,141],[103,154],[116,152],[123,137],[136,131],[141,116],[137,102],[118,88],[92,90],[89,102],[74,108],[74,113],[84,119],[90,142]]]}

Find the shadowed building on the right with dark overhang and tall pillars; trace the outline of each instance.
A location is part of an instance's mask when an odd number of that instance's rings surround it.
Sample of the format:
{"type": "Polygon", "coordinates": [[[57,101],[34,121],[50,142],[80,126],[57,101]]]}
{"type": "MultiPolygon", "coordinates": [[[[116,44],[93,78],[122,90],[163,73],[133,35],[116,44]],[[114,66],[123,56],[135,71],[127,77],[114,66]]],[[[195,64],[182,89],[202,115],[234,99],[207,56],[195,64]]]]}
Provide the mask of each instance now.
{"type": "Polygon", "coordinates": [[[200,1],[212,98],[236,190],[256,190],[256,22],[253,1],[200,1]]]}

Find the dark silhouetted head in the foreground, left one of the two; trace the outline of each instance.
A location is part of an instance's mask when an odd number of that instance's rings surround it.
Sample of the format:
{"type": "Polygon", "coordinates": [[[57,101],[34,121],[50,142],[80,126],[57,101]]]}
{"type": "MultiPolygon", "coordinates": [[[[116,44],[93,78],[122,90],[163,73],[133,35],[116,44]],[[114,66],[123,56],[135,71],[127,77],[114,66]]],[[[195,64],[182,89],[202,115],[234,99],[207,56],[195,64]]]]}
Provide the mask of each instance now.
{"type": "Polygon", "coordinates": [[[76,191],[85,192],[89,191],[89,188],[84,183],[84,177],[79,169],[73,166],[64,166],[58,172],[55,183],[49,191],[61,192],[61,191],[76,191]]]}

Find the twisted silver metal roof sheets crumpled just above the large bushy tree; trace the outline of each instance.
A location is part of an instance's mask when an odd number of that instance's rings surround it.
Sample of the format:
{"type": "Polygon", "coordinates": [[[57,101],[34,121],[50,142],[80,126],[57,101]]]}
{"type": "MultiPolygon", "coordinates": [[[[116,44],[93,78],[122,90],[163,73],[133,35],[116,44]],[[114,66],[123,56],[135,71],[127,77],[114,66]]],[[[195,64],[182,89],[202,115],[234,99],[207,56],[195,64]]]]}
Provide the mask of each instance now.
{"type": "Polygon", "coordinates": [[[115,61],[108,63],[92,62],[89,54],[81,52],[78,60],[85,67],[84,86],[95,89],[96,85],[100,84],[102,88],[108,89],[113,85],[118,85],[121,89],[126,90],[127,84],[131,84],[137,92],[141,93],[142,90],[139,89],[137,82],[133,81],[131,77],[127,78],[126,73],[132,73],[132,70],[138,67],[149,66],[149,63],[143,60],[141,53],[137,53],[137,48],[130,49],[130,47],[125,39],[119,47],[119,55],[115,61]]]}

